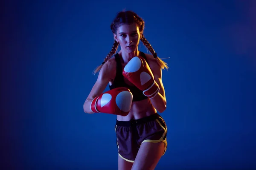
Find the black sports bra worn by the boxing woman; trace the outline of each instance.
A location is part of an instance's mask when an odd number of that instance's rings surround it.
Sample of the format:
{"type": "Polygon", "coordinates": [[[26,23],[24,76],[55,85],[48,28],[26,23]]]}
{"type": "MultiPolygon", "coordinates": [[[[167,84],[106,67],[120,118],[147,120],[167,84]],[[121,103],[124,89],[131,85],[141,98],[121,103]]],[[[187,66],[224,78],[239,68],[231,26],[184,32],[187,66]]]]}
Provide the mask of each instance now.
{"type": "MultiPolygon", "coordinates": [[[[140,56],[143,57],[146,60],[146,62],[148,62],[146,59],[145,53],[140,51],[140,56]]],[[[116,77],[114,79],[113,84],[109,85],[110,90],[113,88],[126,87],[130,89],[133,95],[133,99],[132,99],[133,102],[147,99],[148,97],[143,94],[143,91],[141,91],[134,85],[131,86],[125,83],[124,77],[122,75],[122,64],[121,64],[120,56],[118,53],[115,55],[115,59],[116,59],[116,77]]]]}

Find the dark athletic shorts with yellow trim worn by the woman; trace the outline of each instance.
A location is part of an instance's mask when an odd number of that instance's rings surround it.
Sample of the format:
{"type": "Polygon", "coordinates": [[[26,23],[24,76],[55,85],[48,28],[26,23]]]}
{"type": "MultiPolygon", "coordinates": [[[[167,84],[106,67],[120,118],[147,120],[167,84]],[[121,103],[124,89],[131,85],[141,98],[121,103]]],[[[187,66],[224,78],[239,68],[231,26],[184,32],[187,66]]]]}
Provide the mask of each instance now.
{"type": "Polygon", "coordinates": [[[118,154],[126,161],[134,162],[143,142],[164,142],[166,152],[167,126],[158,113],[137,120],[116,120],[115,131],[118,154]]]}

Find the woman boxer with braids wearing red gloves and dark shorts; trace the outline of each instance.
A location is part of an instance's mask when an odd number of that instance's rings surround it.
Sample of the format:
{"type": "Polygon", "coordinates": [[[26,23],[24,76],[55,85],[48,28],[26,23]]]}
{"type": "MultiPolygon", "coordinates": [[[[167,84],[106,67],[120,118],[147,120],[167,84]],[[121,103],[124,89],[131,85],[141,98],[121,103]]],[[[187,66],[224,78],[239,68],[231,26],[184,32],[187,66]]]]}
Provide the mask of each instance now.
{"type": "Polygon", "coordinates": [[[166,123],[157,112],[166,109],[162,69],[168,67],[145,39],[144,21],[133,11],[119,12],[111,30],[114,44],[94,71],[99,75],[84,112],[117,115],[119,170],[152,170],[167,148],[166,123]],[[153,55],[138,50],[140,40],[153,55]],[[108,83],[110,91],[103,93],[108,83]]]}

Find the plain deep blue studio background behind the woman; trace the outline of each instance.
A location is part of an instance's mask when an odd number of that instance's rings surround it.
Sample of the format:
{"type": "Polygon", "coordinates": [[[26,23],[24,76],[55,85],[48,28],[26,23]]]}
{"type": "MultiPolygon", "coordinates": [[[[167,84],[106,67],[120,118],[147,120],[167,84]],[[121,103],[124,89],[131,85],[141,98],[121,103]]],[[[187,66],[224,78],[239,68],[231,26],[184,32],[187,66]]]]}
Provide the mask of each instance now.
{"type": "Polygon", "coordinates": [[[170,57],[156,169],[256,168],[256,1],[10,0],[0,10],[3,169],[117,169],[116,116],[83,103],[123,9],[170,57]]]}

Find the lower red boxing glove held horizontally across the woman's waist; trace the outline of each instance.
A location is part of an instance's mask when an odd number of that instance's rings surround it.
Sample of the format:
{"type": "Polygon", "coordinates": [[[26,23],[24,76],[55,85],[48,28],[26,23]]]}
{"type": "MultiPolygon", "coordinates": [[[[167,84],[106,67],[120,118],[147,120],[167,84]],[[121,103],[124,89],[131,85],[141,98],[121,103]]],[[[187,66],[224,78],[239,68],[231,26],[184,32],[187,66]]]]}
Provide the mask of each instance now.
{"type": "Polygon", "coordinates": [[[93,99],[90,110],[94,113],[109,113],[127,116],[131,110],[132,93],[128,88],[114,88],[93,99]]]}

